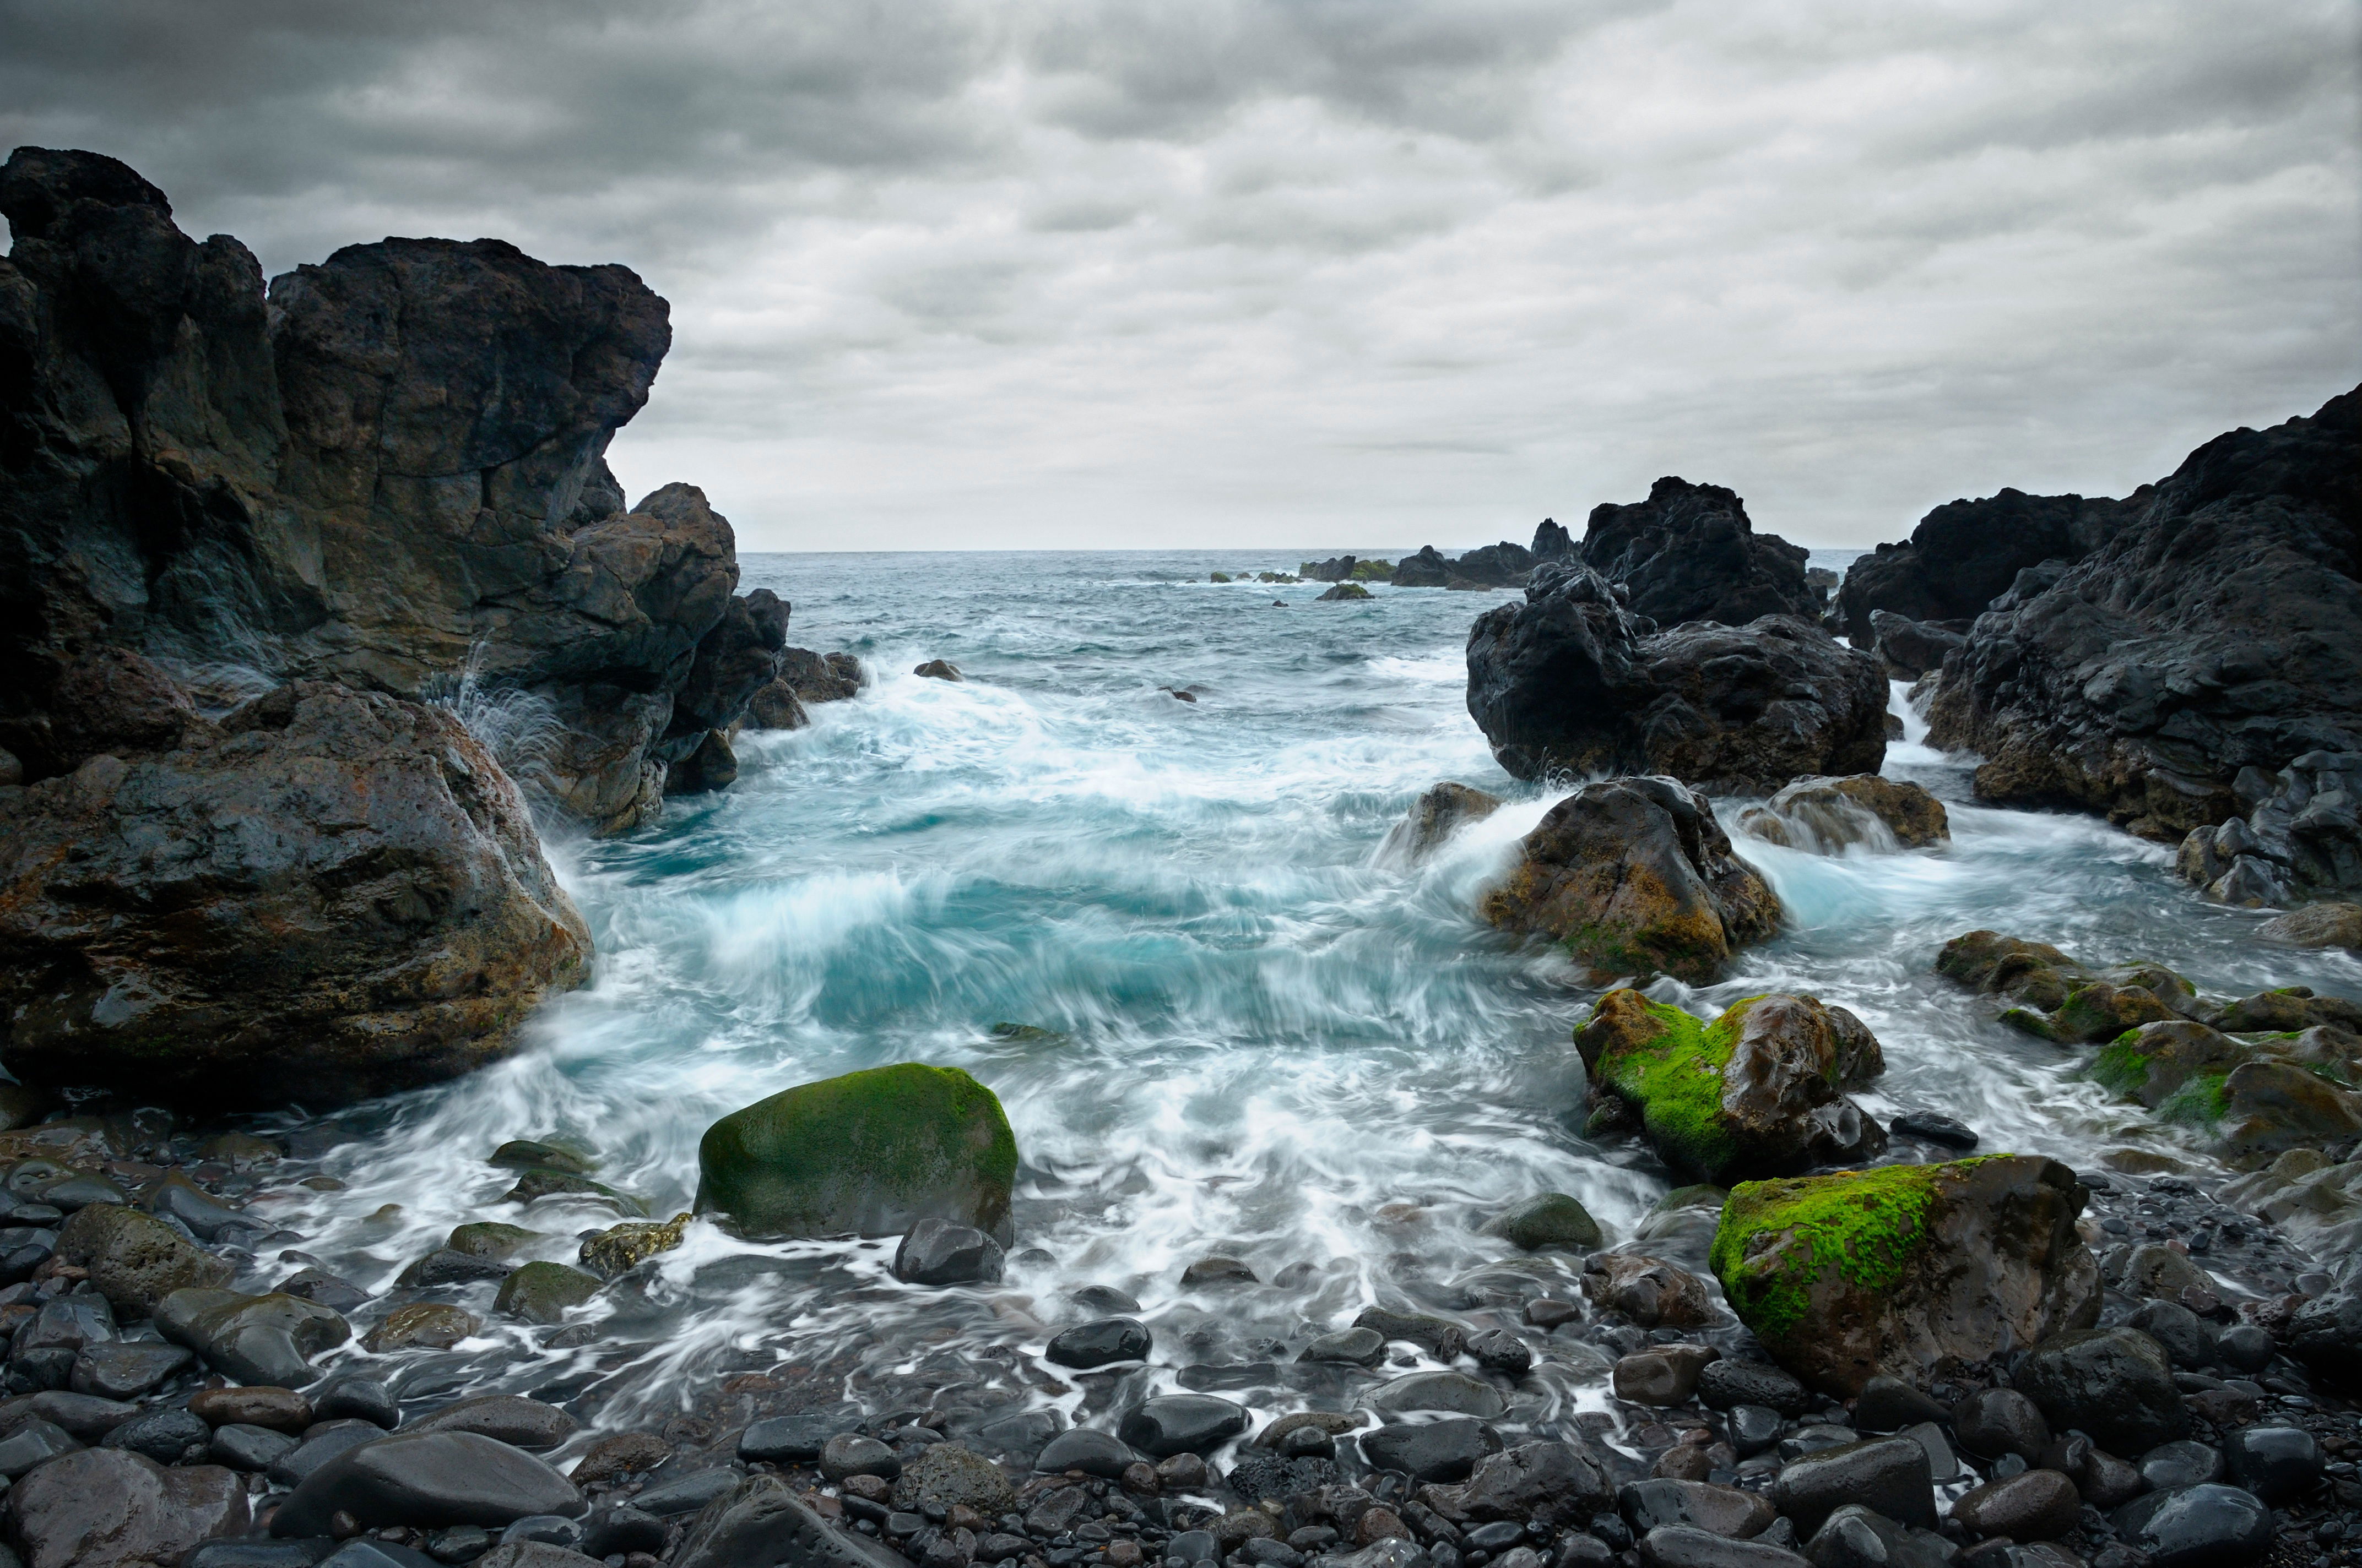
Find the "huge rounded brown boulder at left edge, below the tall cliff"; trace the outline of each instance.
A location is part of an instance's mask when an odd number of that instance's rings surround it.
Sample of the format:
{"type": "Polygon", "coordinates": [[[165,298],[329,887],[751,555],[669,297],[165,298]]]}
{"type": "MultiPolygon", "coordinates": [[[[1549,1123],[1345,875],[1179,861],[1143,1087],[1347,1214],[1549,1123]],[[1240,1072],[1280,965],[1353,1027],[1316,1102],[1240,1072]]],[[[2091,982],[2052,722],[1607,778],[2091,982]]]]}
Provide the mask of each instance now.
{"type": "Polygon", "coordinates": [[[378,1096],[503,1056],[590,954],[484,746],[331,682],[0,791],[0,822],[5,1058],[31,1084],[378,1096]]]}

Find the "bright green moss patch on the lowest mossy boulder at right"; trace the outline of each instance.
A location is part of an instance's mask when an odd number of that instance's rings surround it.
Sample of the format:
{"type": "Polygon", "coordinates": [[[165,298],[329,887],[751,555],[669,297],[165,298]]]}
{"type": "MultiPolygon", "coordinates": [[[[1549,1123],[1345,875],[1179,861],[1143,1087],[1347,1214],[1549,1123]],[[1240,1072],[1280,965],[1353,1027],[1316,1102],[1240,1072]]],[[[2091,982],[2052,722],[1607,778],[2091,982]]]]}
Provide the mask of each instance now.
{"type": "Polygon", "coordinates": [[[1927,1244],[1934,1183],[1982,1159],[1738,1183],[1708,1252],[1731,1311],[1769,1341],[1805,1320],[1826,1270],[1866,1292],[1892,1287],[1927,1244]],[[1769,1233],[1788,1233],[1790,1244],[1750,1259],[1748,1242],[1769,1233]]]}

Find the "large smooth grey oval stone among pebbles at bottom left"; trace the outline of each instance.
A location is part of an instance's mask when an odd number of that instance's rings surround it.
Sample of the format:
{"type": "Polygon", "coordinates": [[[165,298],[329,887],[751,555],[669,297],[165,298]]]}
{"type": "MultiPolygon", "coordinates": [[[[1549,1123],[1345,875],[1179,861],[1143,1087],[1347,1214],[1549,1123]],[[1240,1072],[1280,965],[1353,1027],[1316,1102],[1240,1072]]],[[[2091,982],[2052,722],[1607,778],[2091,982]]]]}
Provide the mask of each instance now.
{"type": "Polygon", "coordinates": [[[522,1448],[472,1431],[399,1431],[347,1448],[279,1504],[272,1535],[328,1535],[338,1514],[380,1525],[484,1525],[583,1511],[574,1483],[522,1448]]]}

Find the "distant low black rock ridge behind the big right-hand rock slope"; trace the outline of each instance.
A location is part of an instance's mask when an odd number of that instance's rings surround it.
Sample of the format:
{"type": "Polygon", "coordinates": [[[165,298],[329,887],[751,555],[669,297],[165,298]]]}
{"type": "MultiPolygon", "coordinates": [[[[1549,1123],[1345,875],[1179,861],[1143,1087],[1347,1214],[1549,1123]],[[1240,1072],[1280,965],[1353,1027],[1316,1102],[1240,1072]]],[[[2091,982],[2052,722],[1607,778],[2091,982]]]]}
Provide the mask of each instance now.
{"type": "Polygon", "coordinates": [[[1878,638],[1873,614],[1908,621],[1970,621],[2043,562],[2064,569],[2140,515],[2147,486],[2128,501],[2029,496],[2003,489],[1984,501],[1946,501],[1899,545],[1878,545],[1845,571],[1838,605],[1854,647],[1878,638]]]}

